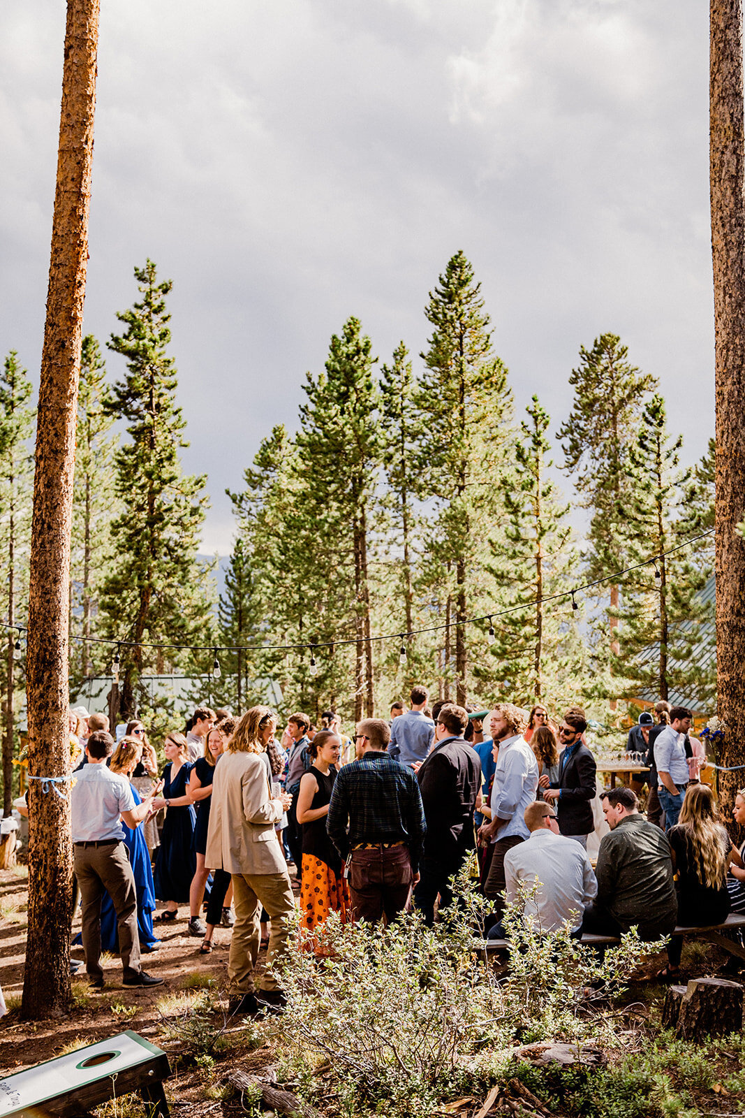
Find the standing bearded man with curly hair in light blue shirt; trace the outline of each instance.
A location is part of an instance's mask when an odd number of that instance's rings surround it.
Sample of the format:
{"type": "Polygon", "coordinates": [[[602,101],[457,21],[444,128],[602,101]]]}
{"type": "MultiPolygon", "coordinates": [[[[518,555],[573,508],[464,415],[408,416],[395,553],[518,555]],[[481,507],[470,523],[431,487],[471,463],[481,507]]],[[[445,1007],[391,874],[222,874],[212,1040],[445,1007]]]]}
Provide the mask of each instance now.
{"type": "Polygon", "coordinates": [[[497,767],[491,786],[491,819],[478,831],[479,843],[488,845],[490,858],[484,892],[494,901],[494,922],[505,910],[505,854],[524,842],[529,831],[525,825],[525,808],[535,799],[538,787],[538,765],[523,737],[525,714],[510,702],[497,703],[491,716],[491,739],[497,767]]]}

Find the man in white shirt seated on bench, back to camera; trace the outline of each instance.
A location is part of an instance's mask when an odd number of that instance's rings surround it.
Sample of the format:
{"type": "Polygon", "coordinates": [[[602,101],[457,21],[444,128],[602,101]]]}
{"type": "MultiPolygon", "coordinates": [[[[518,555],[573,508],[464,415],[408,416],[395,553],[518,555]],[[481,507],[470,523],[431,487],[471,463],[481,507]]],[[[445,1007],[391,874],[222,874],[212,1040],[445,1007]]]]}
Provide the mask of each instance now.
{"type": "MultiPolygon", "coordinates": [[[[524,916],[538,931],[556,931],[566,921],[572,935],[580,937],[582,913],[598,892],[584,846],[558,833],[556,812],[542,799],[528,804],[524,813],[531,832],[525,842],[505,854],[505,896],[508,902],[519,899],[519,884],[535,894],[526,901],[524,916]]],[[[504,939],[502,923],[489,931],[489,939],[504,939]]]]}

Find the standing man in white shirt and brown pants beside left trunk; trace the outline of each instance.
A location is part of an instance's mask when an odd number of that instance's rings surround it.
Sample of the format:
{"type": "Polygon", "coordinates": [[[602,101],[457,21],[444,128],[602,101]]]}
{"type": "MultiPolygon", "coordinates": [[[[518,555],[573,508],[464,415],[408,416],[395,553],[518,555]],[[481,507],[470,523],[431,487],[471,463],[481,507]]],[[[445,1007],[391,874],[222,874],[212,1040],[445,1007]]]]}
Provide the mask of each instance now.
{"type": "Polygon", "coordinates": [[[114,739],[105,730],[90,735],[85,747],[88,764],[70,792],[73,856],[83,901],[83,948],[94,989],[103,989],[101,966],[101,901],[104,890],[114,904],[125,986],[160,986],[162,978],[140,966],[137,894],[124,845],[122,819],[134,830],[150,814],[153,797],[135,804],[130,781],[106,766],[114,739]]]}

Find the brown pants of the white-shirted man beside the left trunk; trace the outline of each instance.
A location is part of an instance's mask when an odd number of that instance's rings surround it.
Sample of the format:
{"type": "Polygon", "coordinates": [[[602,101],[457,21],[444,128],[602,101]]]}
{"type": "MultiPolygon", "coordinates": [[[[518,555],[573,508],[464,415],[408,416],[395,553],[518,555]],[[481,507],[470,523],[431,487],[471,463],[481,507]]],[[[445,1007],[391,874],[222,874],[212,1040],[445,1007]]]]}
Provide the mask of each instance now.
{"type": "Polygon", "coordinates": [[[123,842],[103,846],[75,843],[75,875],[83,900],[85,968],[92,978],[103,978],[101,967],[101,902],[104,890],[114,904],[124,977],[140,973],[137,893],[127,850],[123,842]]]}

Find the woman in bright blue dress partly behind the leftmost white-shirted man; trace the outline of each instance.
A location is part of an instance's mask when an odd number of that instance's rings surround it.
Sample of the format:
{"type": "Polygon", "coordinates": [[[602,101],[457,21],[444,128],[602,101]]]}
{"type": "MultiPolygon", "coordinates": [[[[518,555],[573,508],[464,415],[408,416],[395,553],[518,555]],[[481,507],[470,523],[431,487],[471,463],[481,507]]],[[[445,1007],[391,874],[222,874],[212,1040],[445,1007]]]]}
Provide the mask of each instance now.
{"type": "MultiPolygon", "coordinates": [[[[142,758],[142,745],[135,738],[122,738],[114,750],[109,767],[112,773],[131,779],[132,774],[142,758]]],[[[157,792],[157,787],[154,789],[157,792]]],[[[133,786],[132,795],[135,804],[141,804],[140,793],[133,786]]],[[[141,951],[155,951],[161,946],[160,939],[153,931],[153,912],[155,911],[155,892],[153,889],[153,871],[150,864],[150,853],[143,834],[142,825],[131,831],[126,823],[124,827],[124,844],[130,852],[130,862],[134,874],[134,884],[137,892],[137,934],[140,936],[141,951]]],[[[118,939],[116,935],[116,912],[108,893],[104,893],[101,902],[101,946],[104,951],[118,954],[118,939]]]]}

